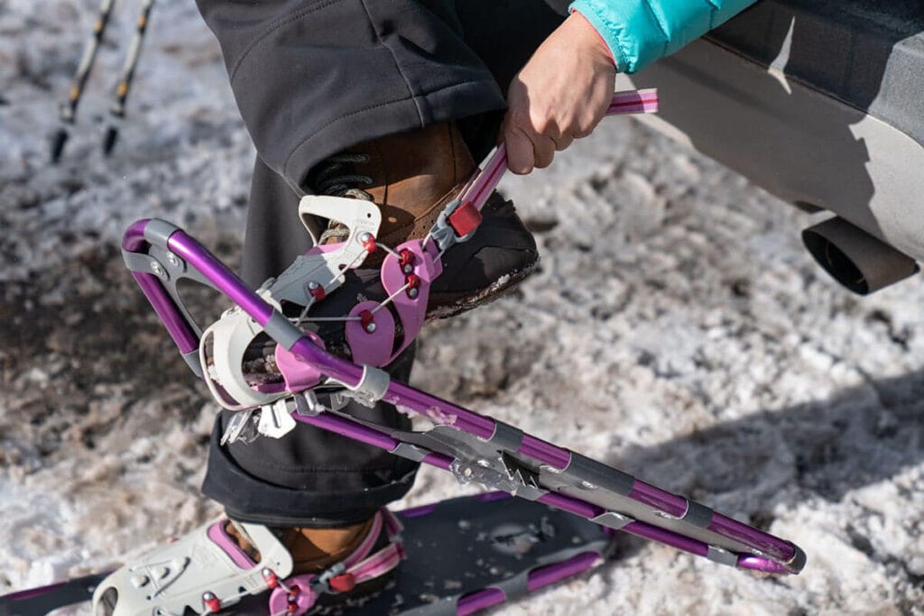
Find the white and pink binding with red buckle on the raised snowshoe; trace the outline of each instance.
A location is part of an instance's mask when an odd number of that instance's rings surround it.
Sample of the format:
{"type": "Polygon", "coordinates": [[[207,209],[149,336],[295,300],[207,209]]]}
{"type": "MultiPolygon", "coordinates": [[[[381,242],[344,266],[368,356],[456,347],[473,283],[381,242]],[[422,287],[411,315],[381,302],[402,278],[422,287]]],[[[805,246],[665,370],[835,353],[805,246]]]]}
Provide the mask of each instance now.
{"type": "MultiPolygon", "coordinates": [[[[648,112],[654,111],[656,106],[657,95],[654,91],[620,93],[614,97],[613,105],[607,113],[648,112]]],[[[301,199],[298,204],[299,216],[316,243],[321,239],[321,225],[318,224],[318,219],[344,223],[349,229],[349,234],[345,242],[315,246],[305,255],[299,256],[286,272],[266,284],[268,297],[274,300],[277,309],[283,302],[291,302],[303,307],[303,310],[295,326],[281,313],[274,313],[264,331],[285,348],[291,348],[301,336],[301,323],[312,320],[311,308],[314,303],[323,301],[325,296],[343,284],[344,271],[358,268],[371,252],[382,248],[388,253],[383,260],[381,272],[386,298],[374,307],[355,307],[345,317],[315,316],[313,320],[345,321],[346,343],[349,345],[354,363],[380,367],[394,360],[416,339],[423,325],[431,285],[443,272],[443,251],[456,242],[465,241],[477,231],[481,223],[480,208],[504,175],[505,162],[505,148],[502,145],[498,147],[484,170],[469,181],[462,191],[461,198],[454,199],[445,206],[428,236],[422,240],[410,240],[395,249],[376,244],[382,213],[375,203],[363,199],[330,196],[310,196],[301,199]],[[394,304],[394,311],[400,320],[400,341],[395,339],[397,323],[394,323],[393,333],[393,319],[389,309],[383,309],[389,303],[394,304]],[[376,319],[379,322],[376,322],[376,319]]],[[[169,229],[160,231],[161,236],[168,233],[169,229]]],[[[226,398],[220,395],[215,383],[210,382],[210,389],[219,403],[228,408],[240,409],[272,402],[279,396],[254,392],[247,386],[240,373],[239,360],[243,357],[244,348],[240,348],[239,343],[255,332],[252,324],[245,326],[237,323],[237,328],[212,330],[211,337],[215,341],[216,352],[213,370],[206,379],[207,382],[217,379],[237,404],[229,405],[226,398]],[[245,332],[247,328],[249,332],[245,332]],[[233,344],[230,340],[219,340],[225,334],[234,334],[233,344]]],[[[382,395],[367,393],[374,399],[382,395]]]]}

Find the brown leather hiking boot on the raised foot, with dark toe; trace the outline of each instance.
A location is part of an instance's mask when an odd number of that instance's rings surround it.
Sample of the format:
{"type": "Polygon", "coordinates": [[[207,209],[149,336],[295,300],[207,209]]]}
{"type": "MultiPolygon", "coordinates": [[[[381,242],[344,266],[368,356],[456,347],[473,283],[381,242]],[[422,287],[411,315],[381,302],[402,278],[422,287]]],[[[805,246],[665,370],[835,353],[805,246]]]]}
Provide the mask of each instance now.
{"type": "MultiPolygon", "coordinates": [[[[376,242],[395,248],[408,239],[426,236],[474,171],[475,163],[455,125],[443,123],[373,139],[335,154],[311,170],[307,184],[318,194],[375,202],[383,213],[376,242]]],[[[443,273],[431,287],[428,320],[451,317],[492,301],[536,269],[539,254],[535,240],[513,204],[495,193],[481,213],[483,220],[474,235],[444,253],[443,273]]],[[[332,221],[320,242],[335,243],[347,236],[346,226],[332,221]]],[[[383,250],[373,252],[360,268],[345,272],[339,289],[310,308],[303,326],[317,332],[329,351],[349,356],[344,323],[312,323],[310,318],[346,316],[358,297],[383,300],[387,296],[380,279],[383,257],[383,250]]],[[[296,308],[292,307],[294,313],[287,316],[297,317],[296,308]]],[[[400,320],[395,321],[400,337],[400,320]]],[[[254,364],[274,372],[272,353],[261,355],[254,364]]]]}

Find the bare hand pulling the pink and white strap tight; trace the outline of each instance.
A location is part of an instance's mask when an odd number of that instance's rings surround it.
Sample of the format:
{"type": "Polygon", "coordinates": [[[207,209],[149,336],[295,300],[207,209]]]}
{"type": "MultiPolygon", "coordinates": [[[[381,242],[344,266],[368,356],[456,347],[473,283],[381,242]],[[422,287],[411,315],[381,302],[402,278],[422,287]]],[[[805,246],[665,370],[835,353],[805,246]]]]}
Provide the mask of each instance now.
{"type": "Polygon", "coordinates": [[[597,30],[572,13],[507,91],[501,131],[510,171],[523,175],[547,167],[556,150],[590,135],[613,99],[615,75],[613,56],[597,30]]]}

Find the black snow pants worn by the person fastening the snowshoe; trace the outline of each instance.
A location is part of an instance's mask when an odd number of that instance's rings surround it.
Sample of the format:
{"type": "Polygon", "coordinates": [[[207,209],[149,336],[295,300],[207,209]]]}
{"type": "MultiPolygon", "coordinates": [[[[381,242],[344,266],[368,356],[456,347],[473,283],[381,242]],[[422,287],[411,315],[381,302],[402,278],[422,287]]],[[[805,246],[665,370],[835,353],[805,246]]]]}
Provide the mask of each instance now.
{"type": "MultiPolygon", "coordinates": [[[[456,121],[476,160],[496,141],[505,91],[565,15],[565,0],[198,0],[221,44],[257,148],[244,245],[256,286],[310,248],[298,199],[310,168],[351,145],[456,121]]],[[[413,349],[389,368],[407,380],[413,349]]],[[[350,408],[400,429],[390,405],[350,408]]],[[[305,424],[222,447],[215,423],[202,491],[229,516],[346,525],[410,489],[417,465],[305,424]]]]}

